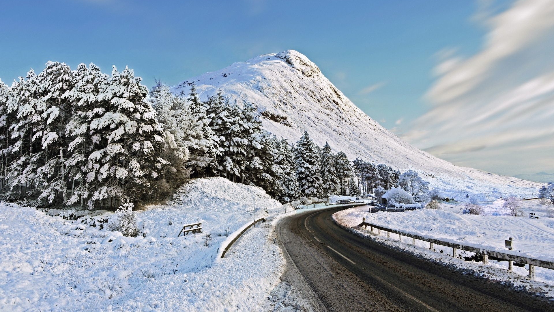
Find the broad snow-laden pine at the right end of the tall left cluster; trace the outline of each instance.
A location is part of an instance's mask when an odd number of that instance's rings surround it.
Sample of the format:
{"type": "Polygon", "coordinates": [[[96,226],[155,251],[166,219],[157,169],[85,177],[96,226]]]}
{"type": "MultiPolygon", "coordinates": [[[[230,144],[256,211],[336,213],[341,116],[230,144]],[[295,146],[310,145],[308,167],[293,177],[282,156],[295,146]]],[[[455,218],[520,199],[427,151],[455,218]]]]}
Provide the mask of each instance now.
{"type": "Polygon", "coordinates": [[[104,199],[109,200],[110,207],[119,207],[146,197],[151,193],[150,183],[166,163],[157,156],[163,150],[163,132],[156,111],[146,101],[148,89],[140,82],[131,69],[117,72],[114,67],[109,85],[100,95],[109,106],[101,117],[92,120],[90,129],[107,144],[89,156],[95,162],[92,168],[98,168],[87,177],[98,180],[89,199],[91,208],[104,199]]]}

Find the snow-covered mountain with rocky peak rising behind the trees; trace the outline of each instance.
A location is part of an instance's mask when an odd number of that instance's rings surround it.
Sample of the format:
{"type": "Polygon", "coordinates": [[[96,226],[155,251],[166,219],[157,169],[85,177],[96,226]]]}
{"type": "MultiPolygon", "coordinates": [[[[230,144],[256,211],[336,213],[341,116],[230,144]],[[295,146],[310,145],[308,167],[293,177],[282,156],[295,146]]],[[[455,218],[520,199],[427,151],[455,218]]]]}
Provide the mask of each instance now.
{"type": "Polygon", "coordinates": [[[404,142],[357,108],[306,56],[294,50],[264,54],[171,88],[188,94],[192,84],[204,100],[218,90],[242,103],[254,103],[266,130],[295,143],[304,130],[323,146],[329,141],[351,160],[413,169],[445,195],[536,194],[539,184],[455,166],[404,142]]]}

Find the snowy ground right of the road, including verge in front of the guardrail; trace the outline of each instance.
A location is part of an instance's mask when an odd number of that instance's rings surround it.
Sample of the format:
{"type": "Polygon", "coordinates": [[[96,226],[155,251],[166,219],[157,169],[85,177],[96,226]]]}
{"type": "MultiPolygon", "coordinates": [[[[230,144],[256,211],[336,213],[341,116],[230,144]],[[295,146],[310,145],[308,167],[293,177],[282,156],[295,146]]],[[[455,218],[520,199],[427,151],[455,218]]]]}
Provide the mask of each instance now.
{"type": "MultiPolygon", "coordinates": [[[[469,215],[435,209],[418,209],[404,213],[368,213],[366,207],[343,210],[335,213],[333,217],[338,224],[347,228],[356,227],[362,222],[362,218],[366,218],[367,223],[381,227],[463,245],[480,246],[489,250],[507,250],[504,240],[511,237],[514,240],[515,251],[525,253],[530,258],[554,259],[554,218],[469,215]]],[[[476,275],[511,283],[515,287],[531,289],[534,293],[554,298],[554,287],[548,286],[554,285],[554,270],[537,266],[536,281],[528,281],[524,277],[528,273],[525,268],[514,266],[516,274],[507,273],[507,261],[489,260],[489,265],[483,265],[460,259],[474,255],[468,251],[458,251],[458,258],[453,258],[452,248],[445,246],[434,245],[434,251],[431,251],[429,243],[425,241],[417,240],[413,246],[411,238],[404,237],[401,243],[398,242],[397,235],[391,235],[391,238],[387,239],[386,232],[381,233],[382,237],[377,237],[370,234],[369,228],[356,228],[353,231],[464,272],[473,271],[476,275]]]]}

